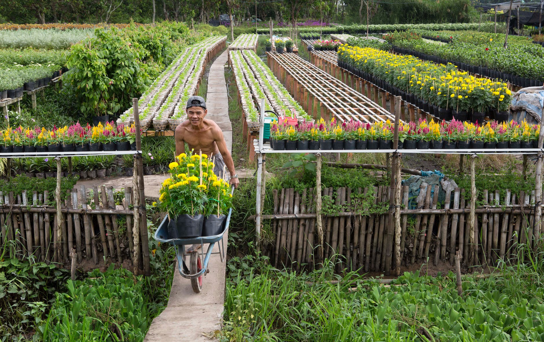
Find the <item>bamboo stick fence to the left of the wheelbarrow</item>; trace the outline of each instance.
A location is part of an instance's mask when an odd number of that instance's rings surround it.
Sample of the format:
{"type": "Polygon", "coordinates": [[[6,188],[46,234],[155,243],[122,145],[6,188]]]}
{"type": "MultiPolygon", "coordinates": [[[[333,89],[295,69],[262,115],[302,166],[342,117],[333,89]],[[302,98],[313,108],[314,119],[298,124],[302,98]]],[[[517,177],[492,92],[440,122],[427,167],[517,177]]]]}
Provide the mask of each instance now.
{"type": "Polygon", "coordinates": [[[68,190],[61,201],[60,220],[54,195],[0,191],[0,246],[11,248],[17,257],[61,266],[70,264],[71,254],[76,253],[78,265],[89,262],[99,267],[129,259],[135,269],[143,270],[149,255],[141,250],[140,228],[134,226],[138,205],[134,205],[131,186],[124,188],[120,204],[115,202],[112,186],[86,189],[81,185],[68,190]]]}

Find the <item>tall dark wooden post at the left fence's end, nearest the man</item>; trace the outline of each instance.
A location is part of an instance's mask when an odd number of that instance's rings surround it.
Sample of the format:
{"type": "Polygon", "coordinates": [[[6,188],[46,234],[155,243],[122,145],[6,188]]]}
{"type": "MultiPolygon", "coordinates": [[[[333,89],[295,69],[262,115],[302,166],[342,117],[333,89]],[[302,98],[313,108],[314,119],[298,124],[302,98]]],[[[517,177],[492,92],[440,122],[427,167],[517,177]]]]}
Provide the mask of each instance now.
{"type": "MultiPolygon", "coordinates": [[[[132,107],[134,112],[134,128],[136,131],[136,150],[141,151],[141,135],[140,135],[140,117],[138,114],[138,99],[132,99],[132,107]]],[[[134,191],[140,191],[139,202],[134,201],[134,207],[139,206],[140,220],[139,226],[134,225],[135,229],[140,229],[141,236],[141,251],[143,256],[143,265],[144,265],[144,274],[146,276],[151,275],[150,264],[149,264],[149,240],[147,240],[147,215],[145,210],[145,194],[144,194],[144,166],[141,160],[141,153],[136,154],[135,162],[138,169],[138,187],[134,188],[134,191]]],[[[135,171],[135,170],[134,170],[135,171]]],[[[134,196],[135,199],[135,196],[134,196]]]]}

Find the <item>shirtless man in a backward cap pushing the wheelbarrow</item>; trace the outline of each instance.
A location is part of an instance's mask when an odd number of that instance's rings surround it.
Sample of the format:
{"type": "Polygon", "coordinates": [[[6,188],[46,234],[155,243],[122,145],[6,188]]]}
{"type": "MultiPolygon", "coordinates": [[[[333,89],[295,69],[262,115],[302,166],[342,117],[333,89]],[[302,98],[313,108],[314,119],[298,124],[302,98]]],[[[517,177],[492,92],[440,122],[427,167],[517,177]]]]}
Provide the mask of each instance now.
{"type": "Polygon", "coordinates": [[[234,161],[231,152],[227,149],[227,144],[223,132],[217,123],[212,120],[204,119],[208,114],[206,102],[200,96],[191,96],[187,101],[187,120],[176,127],[174,132],[176,138],[176,156],[185,152],[185,143],[189,145],[189,150],[194,153],[205,153],[209,160],[213,160],[213,171],[218,177],[224,177],[223,170],[226,166],[226,172],[230,173],[230,184],[238,188],[238,175],[234,170],[234,161]]]}

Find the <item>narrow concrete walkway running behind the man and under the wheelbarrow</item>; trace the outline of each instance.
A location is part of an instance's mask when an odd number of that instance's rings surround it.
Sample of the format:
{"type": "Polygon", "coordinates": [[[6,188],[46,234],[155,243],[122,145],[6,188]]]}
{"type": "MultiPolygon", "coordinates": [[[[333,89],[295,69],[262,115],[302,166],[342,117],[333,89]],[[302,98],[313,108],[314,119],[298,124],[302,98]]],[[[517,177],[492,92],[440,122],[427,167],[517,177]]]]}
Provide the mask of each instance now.
{"type": "MultiPolygon", "coordinates": [[[[228,117],[228,98],[225,82],[227,51],[212,64],[208,76],[207,119],[217,122],[232,151],[232,125],[228,117]]],[[[228,232],[227,232],[228,233],[228,232]]],[[[225,233],[225,248],[227,242],[225,233]]],[[[204,249],[206,250],[206,246],[204,249]]],[[[218,251],[215,244],[214,252],[218,251]]],[[[170,300],[164,311],[153,320],[146,342],[169,341],[209,341],[206,335],[221,328],[221,315],[225,300],[225,262],[221,263],[219,254],[213,254],[208,263],[209,273],[203,277],[200,294],[193,292],[189,279],[183,278],[175,270],[170,300]]]]}

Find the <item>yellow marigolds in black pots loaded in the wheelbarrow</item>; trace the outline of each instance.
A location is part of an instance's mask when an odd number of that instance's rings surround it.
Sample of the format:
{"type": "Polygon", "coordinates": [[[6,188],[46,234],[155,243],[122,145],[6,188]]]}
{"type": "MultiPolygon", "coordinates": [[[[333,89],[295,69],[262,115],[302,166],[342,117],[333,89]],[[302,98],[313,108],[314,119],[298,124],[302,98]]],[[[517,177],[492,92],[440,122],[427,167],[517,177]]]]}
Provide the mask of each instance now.
{"type": "Polygon", "coordinates": [[[206,154],[182,153],[169,165],[157,207],[168,213],[169,238],[220,234],[232,206],[230,185],[215,175],[206,154]]]}

